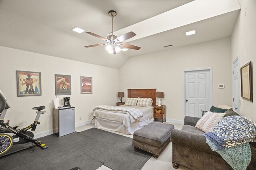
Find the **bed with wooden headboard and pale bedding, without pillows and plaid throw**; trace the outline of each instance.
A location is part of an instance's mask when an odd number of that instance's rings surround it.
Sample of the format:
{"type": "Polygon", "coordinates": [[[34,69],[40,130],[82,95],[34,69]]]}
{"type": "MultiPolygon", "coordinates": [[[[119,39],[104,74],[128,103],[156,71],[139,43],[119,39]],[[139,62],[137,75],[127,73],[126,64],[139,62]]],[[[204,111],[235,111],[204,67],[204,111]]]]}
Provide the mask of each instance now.
{"type": "MultiPolygon", "coordinates": [[[[156,104],[156,89],[128,89],[128,98],[151,98],[152,106],[156,104]]],[[[116,106],[117,109],[135,108],[143,113],[143,117],[131,121],[131,116],[113,111],[95,110],[92,123],[102,129],[112,130],[132,135],[134,131],[153,121],[153,107],[116,106]]]]}

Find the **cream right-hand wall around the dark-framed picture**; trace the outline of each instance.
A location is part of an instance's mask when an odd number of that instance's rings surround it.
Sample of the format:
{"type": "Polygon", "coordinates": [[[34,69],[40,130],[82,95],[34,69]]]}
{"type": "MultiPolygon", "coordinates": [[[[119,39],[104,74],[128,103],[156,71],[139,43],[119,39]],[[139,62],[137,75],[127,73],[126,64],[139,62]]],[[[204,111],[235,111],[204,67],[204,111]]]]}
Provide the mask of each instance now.
{"type": "Polygon", "coordinates": [[[241,11],[231,37],[232,61],[240,56],[240,67],[252,61],[254,102],[242,99],[240,89],[240,114],[256,121],[256,1],[242,0],[240,3],[241,11]]]}

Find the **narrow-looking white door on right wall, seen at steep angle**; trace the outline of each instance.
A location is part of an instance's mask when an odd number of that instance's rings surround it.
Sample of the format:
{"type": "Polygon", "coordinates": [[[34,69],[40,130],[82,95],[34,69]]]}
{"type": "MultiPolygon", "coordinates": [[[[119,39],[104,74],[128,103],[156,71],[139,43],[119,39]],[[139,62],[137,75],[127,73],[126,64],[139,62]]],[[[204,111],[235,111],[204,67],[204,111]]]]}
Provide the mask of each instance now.
{"type": "Polygon", "coordinates": [[[233,110],[239,114],[239,85],[240,85],[239,57],[233,61],[233,110]]]}

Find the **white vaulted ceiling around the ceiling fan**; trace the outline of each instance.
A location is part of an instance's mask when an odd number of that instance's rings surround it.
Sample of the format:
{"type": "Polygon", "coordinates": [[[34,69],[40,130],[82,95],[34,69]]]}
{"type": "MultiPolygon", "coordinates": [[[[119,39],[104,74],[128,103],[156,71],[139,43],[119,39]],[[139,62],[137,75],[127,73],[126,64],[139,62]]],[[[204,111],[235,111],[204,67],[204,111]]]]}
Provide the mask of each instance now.
{"type": "Polygon", "coordinates": [[[240,12],[238,0],[0,0],[0,45],[55,57],[120,68],[131,56],[230,37],[240,12]],[[85,32],[107,37],[133,31],[126,41],[141,47],[117,54],[85,32]],[[186,31],[196,34],[186,36],[186,31]],[[166,45],[172,45],[166,47],[166,45]]]}

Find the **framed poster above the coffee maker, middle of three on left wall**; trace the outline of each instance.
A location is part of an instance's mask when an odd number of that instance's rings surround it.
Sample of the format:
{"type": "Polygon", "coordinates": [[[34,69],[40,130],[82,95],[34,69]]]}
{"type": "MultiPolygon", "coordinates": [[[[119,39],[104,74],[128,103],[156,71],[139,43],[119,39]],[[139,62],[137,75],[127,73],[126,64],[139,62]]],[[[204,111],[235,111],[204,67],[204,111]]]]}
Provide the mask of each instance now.
{"type": "Polygon", "coordinates": [[[71,94],[71,76],[55,74],[55,95],[71,94]]]}

